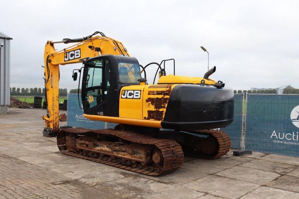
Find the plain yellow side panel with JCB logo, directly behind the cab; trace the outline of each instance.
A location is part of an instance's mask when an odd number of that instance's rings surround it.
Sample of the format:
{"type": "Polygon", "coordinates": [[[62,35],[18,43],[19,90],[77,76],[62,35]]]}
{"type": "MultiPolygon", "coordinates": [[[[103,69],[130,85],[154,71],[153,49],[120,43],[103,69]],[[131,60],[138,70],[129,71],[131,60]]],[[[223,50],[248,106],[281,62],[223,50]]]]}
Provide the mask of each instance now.
{"type": "Polygon", "coordinates": [[[142,100],[145,85],[124,86],[119,97],[119,117],[142,119],[142,100]]]}

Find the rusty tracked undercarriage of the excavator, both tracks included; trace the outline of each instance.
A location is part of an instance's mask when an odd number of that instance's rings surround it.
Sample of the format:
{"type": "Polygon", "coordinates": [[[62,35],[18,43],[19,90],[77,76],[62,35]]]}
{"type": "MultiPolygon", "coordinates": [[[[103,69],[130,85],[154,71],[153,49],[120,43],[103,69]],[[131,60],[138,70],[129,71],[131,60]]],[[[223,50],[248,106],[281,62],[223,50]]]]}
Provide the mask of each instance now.
{"type": "Polygon", "coordinates": [[[225,155],[231,145],[228,135],[217,130],[127,129],[122,125],[101,130],[65,128],[58,133],[57,145],[65,155],[150,176],[179,169],[184,154],[214,159],[225,155]]]}

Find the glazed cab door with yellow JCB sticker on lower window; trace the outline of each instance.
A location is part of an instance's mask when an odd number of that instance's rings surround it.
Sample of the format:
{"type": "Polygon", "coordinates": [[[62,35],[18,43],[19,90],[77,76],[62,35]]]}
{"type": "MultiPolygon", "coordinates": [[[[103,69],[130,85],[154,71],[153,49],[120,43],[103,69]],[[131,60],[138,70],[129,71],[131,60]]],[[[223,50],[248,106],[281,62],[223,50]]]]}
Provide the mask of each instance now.
{"type": "Polygon", "coordinates": [[[108,59],[99,57],[84,66],[82,83],[82,105],[84,110],[95,109],[103,115],[103,101],[110,92],[110,64],[108,59]]]}

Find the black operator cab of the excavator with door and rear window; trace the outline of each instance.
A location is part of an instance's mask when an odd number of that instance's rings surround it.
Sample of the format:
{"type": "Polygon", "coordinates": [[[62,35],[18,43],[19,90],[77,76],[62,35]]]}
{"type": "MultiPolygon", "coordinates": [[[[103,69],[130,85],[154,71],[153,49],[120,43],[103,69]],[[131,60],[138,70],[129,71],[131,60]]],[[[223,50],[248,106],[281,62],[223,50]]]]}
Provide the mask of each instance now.
{"type": "Polygon", "coordinates": [[[134,57],[103,55],[88,59],[82,79],[82,105],[85,114],[118,117],[120,89],[139,85],[139,62],[134,57]]]}

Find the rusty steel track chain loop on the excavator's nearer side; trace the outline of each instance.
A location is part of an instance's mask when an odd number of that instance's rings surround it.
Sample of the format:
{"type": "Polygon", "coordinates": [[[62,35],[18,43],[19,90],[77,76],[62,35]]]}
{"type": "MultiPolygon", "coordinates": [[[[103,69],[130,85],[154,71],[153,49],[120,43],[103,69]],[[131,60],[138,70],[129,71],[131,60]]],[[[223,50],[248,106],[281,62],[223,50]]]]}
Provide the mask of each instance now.
{"type": "Polygon", "coordinates": [[[154,138],[143,134],[135,133],[132,131],[121,131],[115,129],[92,130],[86,128],[65,128],[58,133],[57,146],[63,154],[68,156],[78,157],[85,160],[90,160],[97,163],[102,163],[120,169],[125,169],[128,171],[132,171],[144,175],[150,175],[150,176],[158,176],[161,174],[173,172],[182,166],[184,160],[184,153],[182,151],[182,148],[175,140],[159,139],[159,138],[154,138]],[[84,155],[70,152],[67,150],[65,146],[65,136],[68,133],[72,133],[76,135],[92,135],[92,134],[112,135],[134,143],[155,145],[158,149],[160,149],[161,154],[163,156],[164,159],[163,167],[159,168],[161,169],[160,172],[151,172],[145,169],[132,168],[127,165],[122,165],[121,163],[113,163],[110,161],[104,161],[94,157],[84,156],[84,155]]]}

